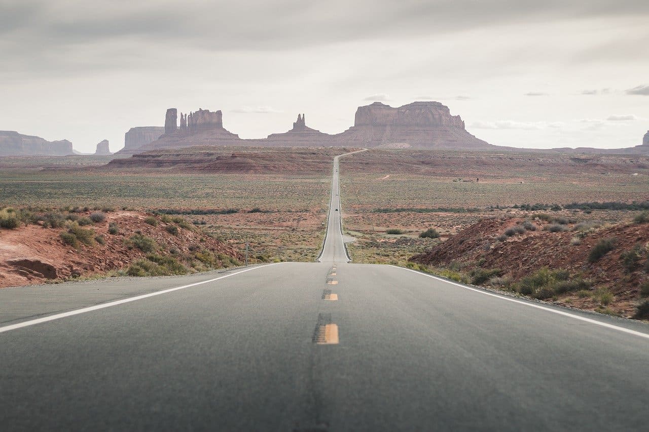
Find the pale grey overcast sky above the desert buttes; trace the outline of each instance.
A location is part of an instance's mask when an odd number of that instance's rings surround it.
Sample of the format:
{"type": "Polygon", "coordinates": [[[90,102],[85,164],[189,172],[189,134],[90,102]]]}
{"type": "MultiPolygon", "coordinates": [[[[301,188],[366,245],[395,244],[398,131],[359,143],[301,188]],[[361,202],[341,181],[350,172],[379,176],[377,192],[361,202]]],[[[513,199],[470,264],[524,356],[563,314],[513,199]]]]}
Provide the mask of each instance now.
{"type": "Polygon", "coordinates": [[[262,138],[434,100],[515,147],[649,129],[647,0],[0,0],[0,130],[113,151],[170,107],[262,138]]]}

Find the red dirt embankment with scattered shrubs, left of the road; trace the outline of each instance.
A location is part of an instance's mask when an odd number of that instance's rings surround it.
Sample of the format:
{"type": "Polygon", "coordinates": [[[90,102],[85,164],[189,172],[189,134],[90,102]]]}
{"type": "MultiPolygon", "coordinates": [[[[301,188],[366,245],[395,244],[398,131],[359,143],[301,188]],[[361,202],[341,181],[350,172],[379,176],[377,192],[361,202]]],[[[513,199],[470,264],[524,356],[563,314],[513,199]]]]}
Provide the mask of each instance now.
{"type": "MultiPolygon", "coordinates": [[[[86,215],[91,212],[86,213],[86,215]]],[[[80,213],[84,216],[84,213],[80,213]]],[[[234,259],[242,259],[232,246],[205,235],[200,230],[178,228],[178,234],[167,232],[167,226],[159,217],[157,226],[144,222],[145,213],[138,211],[115,211],[106,213],[106,220],[86,226],[95,235],[101,235],[105,244],[96,242],[92,246],[75,249],[63,243],[60,234],[67,228],[43,228],[30,224],[14,230],[0,229],[0,288],[43,283],[47,280],[65,280],[71,277],[92,276],[110,270],[125,269],[136,259],[146,254],[129,246],[134,234],[154,239],[160,250],[184,254],[192,250],[210,250],[234,259]],[[109,224],[117,224],[119,232],[109,234],[109,224]]]]}

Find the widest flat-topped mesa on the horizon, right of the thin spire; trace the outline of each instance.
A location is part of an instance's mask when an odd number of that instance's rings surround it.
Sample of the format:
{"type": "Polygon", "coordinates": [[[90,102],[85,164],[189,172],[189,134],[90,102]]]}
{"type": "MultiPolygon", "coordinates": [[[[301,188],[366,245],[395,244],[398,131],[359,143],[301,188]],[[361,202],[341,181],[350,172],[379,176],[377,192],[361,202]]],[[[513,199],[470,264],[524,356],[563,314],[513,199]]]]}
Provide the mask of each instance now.
{"type": "Polygon", "coordinates": [[[399,144],[433,149],[497,149],[465,129],[459,115],[439,102],[393,108],[381,102],[360,106],[354,126],[336,135],[339,145],[386,147],[399,144]]]}

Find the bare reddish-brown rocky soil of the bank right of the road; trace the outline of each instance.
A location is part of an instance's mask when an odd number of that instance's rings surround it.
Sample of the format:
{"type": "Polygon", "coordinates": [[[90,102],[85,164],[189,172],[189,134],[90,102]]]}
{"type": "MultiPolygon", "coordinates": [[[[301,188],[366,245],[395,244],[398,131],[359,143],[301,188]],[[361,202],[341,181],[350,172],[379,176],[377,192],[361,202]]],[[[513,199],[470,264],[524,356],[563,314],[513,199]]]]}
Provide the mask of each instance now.
{"type": "MultiPolygon", "coordinates": [[[[606,287],[615,295],[609,306],[613,311],[630,317],[639,300],[641,283],[649,280],[643,270],[648,259],[649,224],[615,224],[603,226],[589,233],[579,245],[572,245],[575,232],[551,233],[542,230],[545,222],[535,221],[539,229],[533,232],[513,235],[505,241],[496,237],[505,232],[519,218],[495,218],[480,221],[432,250],[414,256],[411,260],[424,265],[449,265],[468,263],[471,269],[481,261],[483,269],[500,269],[502,274],[519,280],[541,267],[567,269],[593,282],[594,287],[606,287]],[[593,246],[601,239],[617,239],[613,250],[595,263],[589,263],[588,256],[593,246]],[[643,257],[637,269],[628,271],[620,258],[635,245],[644,248],[643,257]]],[[[561,296],[559,303],[594,310],[598,303],[593,298],[577,298],[574,293],[561,296]]]]}

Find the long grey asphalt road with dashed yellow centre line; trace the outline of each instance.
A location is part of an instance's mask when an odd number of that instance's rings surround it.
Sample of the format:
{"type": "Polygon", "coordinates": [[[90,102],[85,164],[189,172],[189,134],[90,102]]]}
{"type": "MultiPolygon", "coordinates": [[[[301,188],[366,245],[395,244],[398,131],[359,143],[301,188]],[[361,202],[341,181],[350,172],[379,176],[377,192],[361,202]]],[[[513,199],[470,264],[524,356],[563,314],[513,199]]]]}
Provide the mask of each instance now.
{"type": "Polygon", "coordinates": [[[349,263],[0,290],[3,431],[633,431],[641,322],[349,263]]]}

